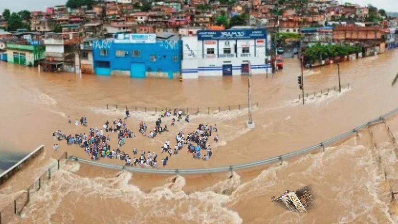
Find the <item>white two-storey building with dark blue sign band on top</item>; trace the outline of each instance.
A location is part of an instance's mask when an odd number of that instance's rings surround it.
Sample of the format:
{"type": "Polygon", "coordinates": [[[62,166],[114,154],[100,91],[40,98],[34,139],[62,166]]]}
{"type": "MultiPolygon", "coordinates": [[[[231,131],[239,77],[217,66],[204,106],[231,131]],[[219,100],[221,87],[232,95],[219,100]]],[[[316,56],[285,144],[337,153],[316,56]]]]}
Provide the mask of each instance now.
{"type": "Polygon", "coordinates": [[[272,72],[266,63],[265,29],[201,30],[182,41],[183,79],[272,72]]]}

